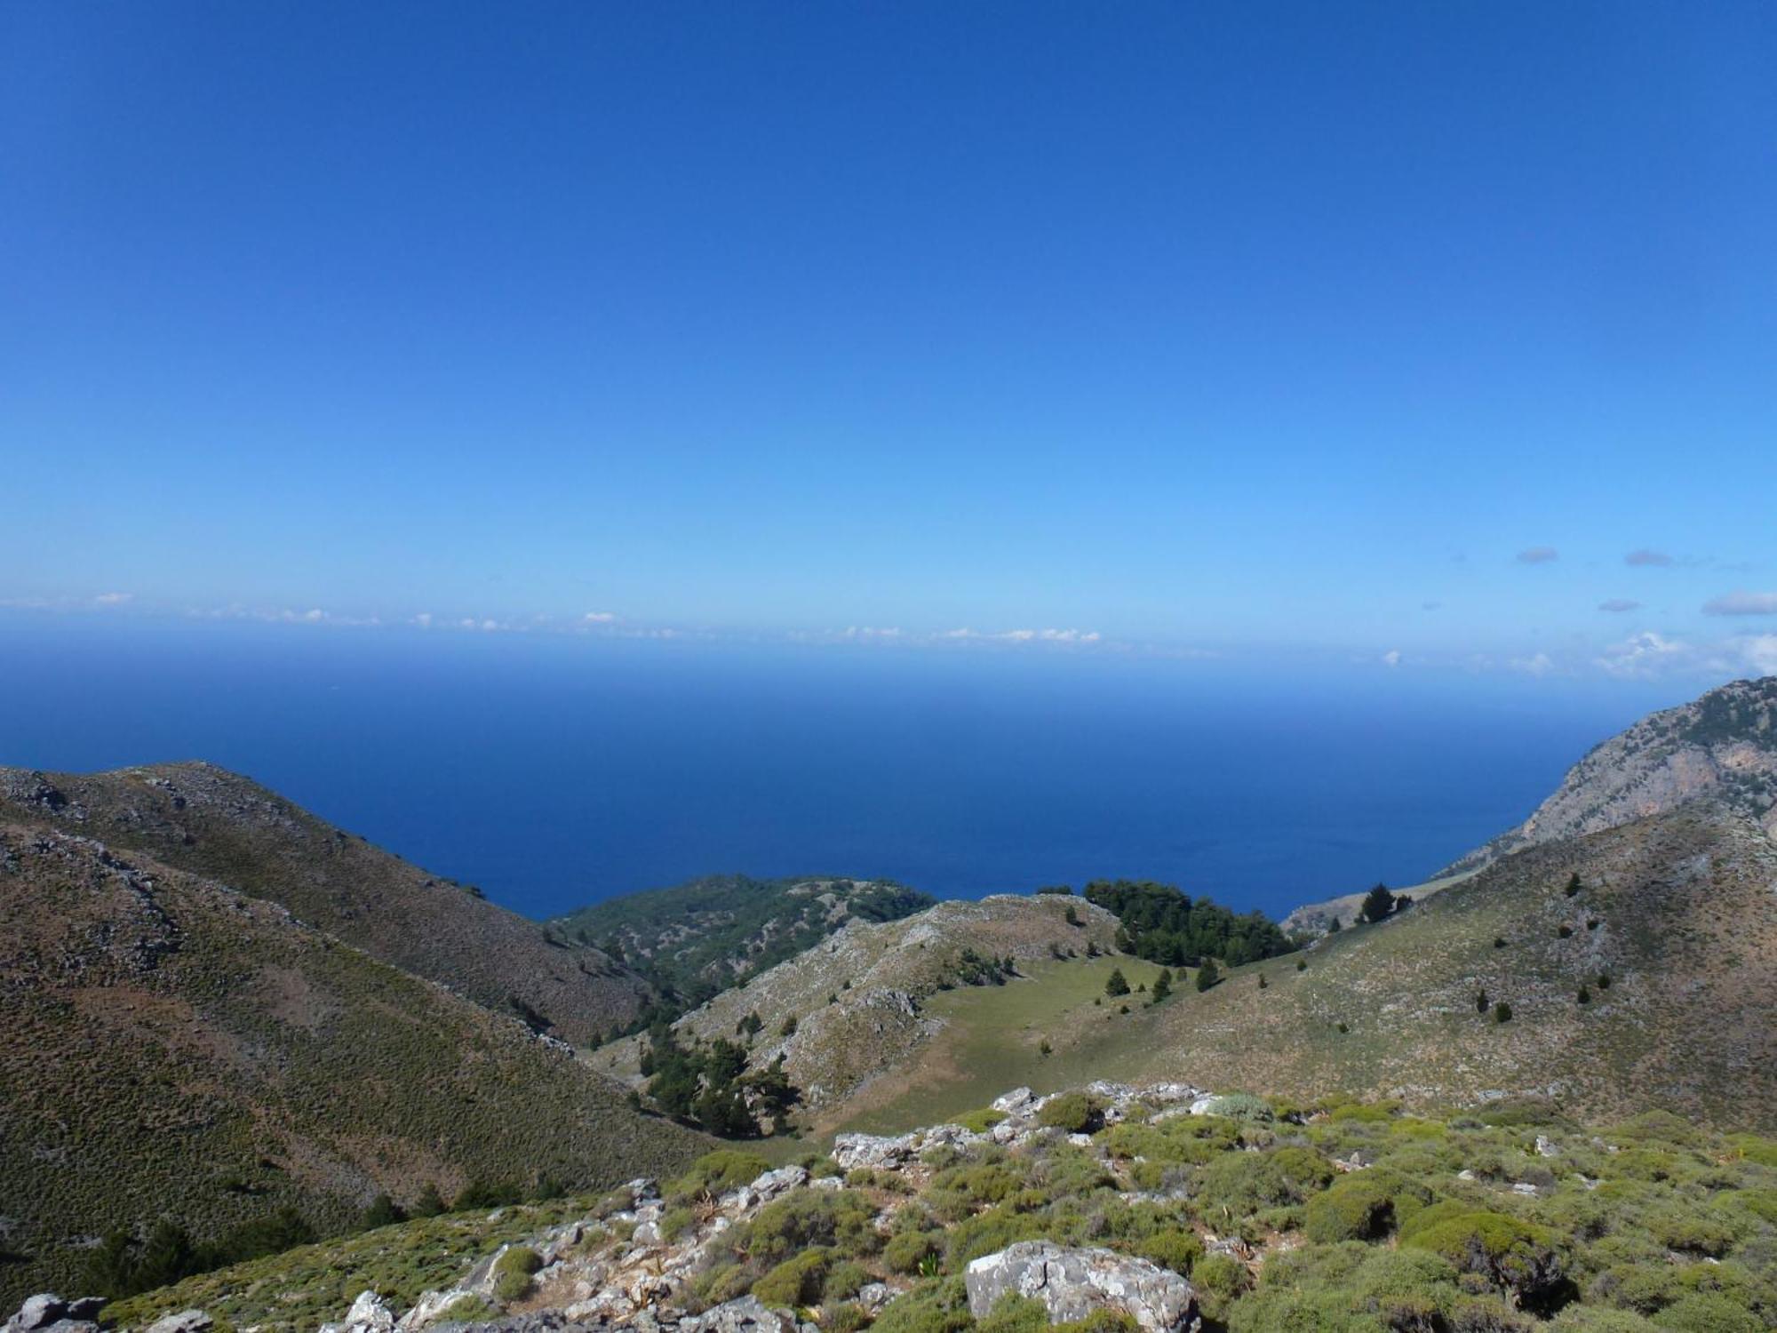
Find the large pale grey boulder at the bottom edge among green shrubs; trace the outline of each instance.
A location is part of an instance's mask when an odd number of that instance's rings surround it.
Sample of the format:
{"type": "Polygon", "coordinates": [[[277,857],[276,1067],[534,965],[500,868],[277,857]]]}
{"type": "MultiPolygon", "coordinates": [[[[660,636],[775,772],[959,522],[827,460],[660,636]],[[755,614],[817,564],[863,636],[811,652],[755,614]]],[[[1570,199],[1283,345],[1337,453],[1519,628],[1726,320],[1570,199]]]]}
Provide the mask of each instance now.
{"type": "Polygon", "coordinates": [[[1041,1301],[1052,1324],[1116,1310],[1148,1333],[1194,1333],[1201,1326],[1189,1281],[1109,1249],[1022,1241],[974,1260],[963,1281],[976,1319],[984,1319],[1006,1296],[1024,1296],[1041,1301]]]}

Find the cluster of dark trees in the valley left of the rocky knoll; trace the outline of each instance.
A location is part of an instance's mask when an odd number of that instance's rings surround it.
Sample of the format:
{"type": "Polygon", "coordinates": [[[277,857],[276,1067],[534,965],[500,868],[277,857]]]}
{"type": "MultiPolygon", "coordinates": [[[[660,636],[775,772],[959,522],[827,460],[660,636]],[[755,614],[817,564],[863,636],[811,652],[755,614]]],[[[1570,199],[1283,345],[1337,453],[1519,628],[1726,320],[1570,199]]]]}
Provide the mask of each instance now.
{"type": "MultiPolygon", "coordinates": [[[[757,1033],[748,1020],[741,1029],[757,1033]]],[[[789,1113],[801,1102],[801,1090],[784,1072],[784,1056],[753,1074],[746,1072],[746,1047],[718,1036],[707,1045],[679,1045],[670,1024],[649,1031],[641,1050],[641,1074],[649,1098],[666,1114],[693,1120],[727,1139],[757,1139],[769,1120],[773,1134],[789,1129],[789,1113]]]]}

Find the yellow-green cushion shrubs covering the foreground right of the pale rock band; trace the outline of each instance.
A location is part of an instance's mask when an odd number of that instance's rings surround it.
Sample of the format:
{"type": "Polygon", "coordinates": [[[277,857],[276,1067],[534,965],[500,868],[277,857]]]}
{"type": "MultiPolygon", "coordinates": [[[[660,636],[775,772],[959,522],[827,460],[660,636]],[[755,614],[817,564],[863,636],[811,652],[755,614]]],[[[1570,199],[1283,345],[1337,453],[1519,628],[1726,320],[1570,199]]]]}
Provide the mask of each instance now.
{"type": "MultiPolygon", "coordinates": [[[[1535,1102],[1425,1116],[1258,1100],[1098,1130],[1109,1169],[1054,1141],[961,1155],[873,1260],[929,1278],[880,1326],[968,1328],[954,1297],[968,1260],[1048,1239],[1189,1274],[1230,1333],[1777,1328],[1768,1139],[1663,1114],[1590,1130],[1535,1102]],[[1208,1251],[1230,1235],[1253,1257],[1208,1251]]],[[[1040,1328],[1018,1301],[979,1321],[1025,1326],[1040,1328]]]]}

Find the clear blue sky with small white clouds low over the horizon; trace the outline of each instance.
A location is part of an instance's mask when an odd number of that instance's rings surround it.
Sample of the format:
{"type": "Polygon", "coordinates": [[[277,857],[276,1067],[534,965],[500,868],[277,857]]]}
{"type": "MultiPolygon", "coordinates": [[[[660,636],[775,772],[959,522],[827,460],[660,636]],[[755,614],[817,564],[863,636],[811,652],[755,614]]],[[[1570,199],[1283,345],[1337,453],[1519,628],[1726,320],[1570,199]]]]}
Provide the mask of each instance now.
{"type": "Polygon", "coordinates": [[[0,601],[1777,672],[1773,71],[1766,0],[9,4],[0,601]]]}

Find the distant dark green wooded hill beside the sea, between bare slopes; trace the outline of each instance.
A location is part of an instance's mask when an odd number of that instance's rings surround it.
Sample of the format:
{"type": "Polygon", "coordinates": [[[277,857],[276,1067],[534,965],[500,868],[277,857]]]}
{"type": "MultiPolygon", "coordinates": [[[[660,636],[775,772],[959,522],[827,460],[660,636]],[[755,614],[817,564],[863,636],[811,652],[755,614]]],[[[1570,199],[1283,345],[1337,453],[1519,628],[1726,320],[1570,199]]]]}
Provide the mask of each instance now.
{"type": "Polygon", "coordinates": [[[899,921],[935,901],[874,880],[713,874],[594,903],[551,924],[581,944],[602,946],[681,1008],[693,1008],[794,958],[848,921],[899,921]]]}

